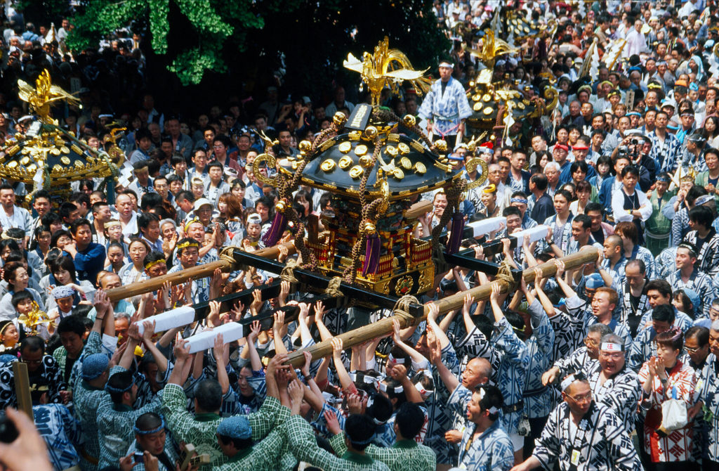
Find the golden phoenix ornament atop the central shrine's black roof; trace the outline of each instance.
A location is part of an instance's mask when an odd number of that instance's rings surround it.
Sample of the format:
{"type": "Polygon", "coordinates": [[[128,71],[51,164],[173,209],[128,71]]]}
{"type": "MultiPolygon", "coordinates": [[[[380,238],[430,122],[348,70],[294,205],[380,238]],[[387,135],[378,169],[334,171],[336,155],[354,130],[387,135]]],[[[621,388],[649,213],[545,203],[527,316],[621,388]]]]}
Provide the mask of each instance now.
{"type": "Polygon", "coordinates": [[[431,86],[431,79],[424,77],[429,69],[414,70],[407,56],[398,49],[390,49],[389,42],[385,36],[375,47],[374,54],[364,53],[359,60],[349,53],[343,63],[345,68],[362,74],[362,81],[372,95],[372,107],[380,106],[380,94],[385,86],[389,86],[395,94],[403,81],[410,81],[417,94],[425,94],[431,86]]]}

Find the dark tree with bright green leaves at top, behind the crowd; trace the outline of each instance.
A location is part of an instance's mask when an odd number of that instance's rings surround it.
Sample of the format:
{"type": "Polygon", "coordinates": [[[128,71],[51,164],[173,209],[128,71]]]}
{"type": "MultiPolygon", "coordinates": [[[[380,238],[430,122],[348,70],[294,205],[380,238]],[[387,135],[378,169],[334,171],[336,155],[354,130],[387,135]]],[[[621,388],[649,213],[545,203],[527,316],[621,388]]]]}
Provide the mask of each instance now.
{"type": "MultiPolygon", "coordinates": [[[[23,0],[42,3],[44,0],[23,0]]],[[[416,68],[436,63],[449,42],[431,0],[82,0],[68,37],[73,50],[97,45],[128,24],[149,38],[157,60],[183,86],[229,73],[252,81],[284,69],[307,91],[358,81],[342,69],[348,52],[371,50],[385,35],[416,68]]]]}

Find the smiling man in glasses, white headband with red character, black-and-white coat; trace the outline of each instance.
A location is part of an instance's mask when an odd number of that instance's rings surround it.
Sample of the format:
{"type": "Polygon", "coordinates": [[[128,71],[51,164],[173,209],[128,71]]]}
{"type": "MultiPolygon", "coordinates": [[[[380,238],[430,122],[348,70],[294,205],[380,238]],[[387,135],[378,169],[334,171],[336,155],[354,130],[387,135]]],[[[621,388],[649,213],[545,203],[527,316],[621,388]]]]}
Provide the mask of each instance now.
{"type": "Polygon", "coordinates": [[[611,408],[631,434],[641,385],[637,374],[626,367],[625,355],[623,339],[608,333],[602,337],[599,361],[587,364],[585,374],[597,403],[611,408]]]}

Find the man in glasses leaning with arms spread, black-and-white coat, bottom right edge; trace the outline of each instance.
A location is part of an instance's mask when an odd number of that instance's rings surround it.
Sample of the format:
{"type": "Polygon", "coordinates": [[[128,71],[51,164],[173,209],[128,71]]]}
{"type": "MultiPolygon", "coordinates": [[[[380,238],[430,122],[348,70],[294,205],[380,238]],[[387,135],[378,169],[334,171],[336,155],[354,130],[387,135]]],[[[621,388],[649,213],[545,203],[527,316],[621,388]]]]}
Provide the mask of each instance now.
{"type": "Polygon", "coordinates": [[[532,456],[512,471],[641,470],[631,436],[612,408],[595,402],[584,374],[562,380],[563,403],[549,415],[532,456]]]}

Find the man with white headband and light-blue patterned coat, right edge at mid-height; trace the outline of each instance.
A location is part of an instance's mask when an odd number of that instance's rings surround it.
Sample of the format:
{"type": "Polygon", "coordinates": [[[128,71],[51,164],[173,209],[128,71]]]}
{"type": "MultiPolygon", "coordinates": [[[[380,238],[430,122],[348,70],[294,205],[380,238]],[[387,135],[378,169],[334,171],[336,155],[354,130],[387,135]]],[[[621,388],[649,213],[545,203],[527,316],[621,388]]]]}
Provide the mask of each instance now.
{"type": "Polygon", "coordinates": [[[697,263],[696,246],[689,242],[679,243],[675,263],[677,271],[669,275],[667,282],[672,286],[672,290],[689,288],[697,292],[701,304],[695,306],[695,317],[708,318],[711,300],[715,298],[716,294],[712,286],[712,279],[695,267],[697,263]]]}

